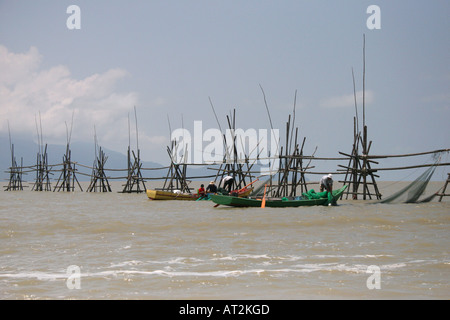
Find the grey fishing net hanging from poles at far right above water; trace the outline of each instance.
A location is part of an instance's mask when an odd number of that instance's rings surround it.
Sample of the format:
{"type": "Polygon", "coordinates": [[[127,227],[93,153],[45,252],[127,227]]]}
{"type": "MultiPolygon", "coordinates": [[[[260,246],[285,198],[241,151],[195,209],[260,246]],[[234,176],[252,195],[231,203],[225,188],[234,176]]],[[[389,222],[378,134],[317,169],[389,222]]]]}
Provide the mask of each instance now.
{"type": "Polygon", "coordinates": [[[434,166],[428,168],[424,173],[422,173],[416,180],[410,183],[408,186],[403,188],[402,190],[394,193],[390,197],[387,197],[384,200],[379,201],[379,203],[421,203],[421,202],[429,202],[433,200],[436,196],[436,193],[419,200],[419,198],[425,192],[425,189],[433,176],[434,171],[436,170],[436,165],[439,162],[436,161],[434,166]]]}

